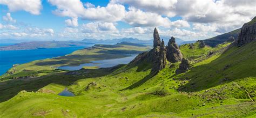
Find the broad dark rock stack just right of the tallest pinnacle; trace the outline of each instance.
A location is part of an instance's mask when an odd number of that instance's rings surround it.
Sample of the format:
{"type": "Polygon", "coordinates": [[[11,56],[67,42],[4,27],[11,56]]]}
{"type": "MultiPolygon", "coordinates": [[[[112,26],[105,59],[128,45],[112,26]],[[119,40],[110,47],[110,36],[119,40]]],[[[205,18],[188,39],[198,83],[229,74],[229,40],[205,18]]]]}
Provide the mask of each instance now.
{"type": "Polygon", "coordinates": [[[175,38],[171,38],[166,47],[167,49],[167,60],[171,63],[180,62],[183,58],[178,45],[176,44],[175,38]]]}

